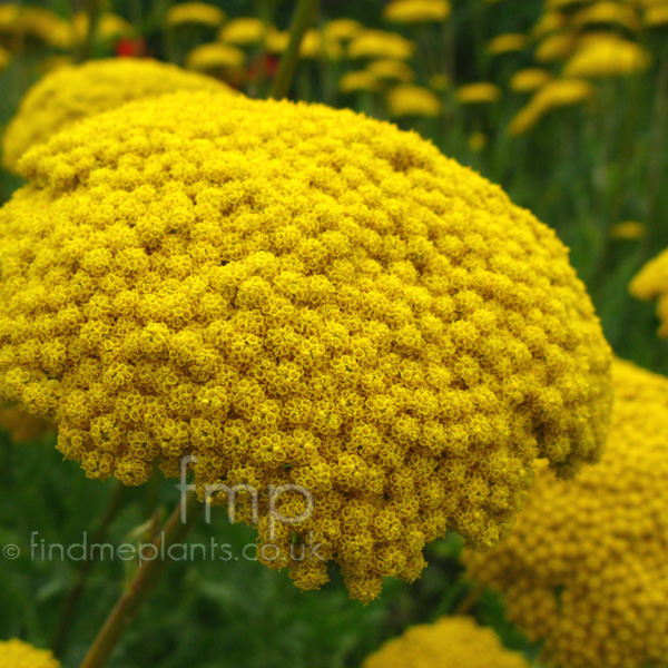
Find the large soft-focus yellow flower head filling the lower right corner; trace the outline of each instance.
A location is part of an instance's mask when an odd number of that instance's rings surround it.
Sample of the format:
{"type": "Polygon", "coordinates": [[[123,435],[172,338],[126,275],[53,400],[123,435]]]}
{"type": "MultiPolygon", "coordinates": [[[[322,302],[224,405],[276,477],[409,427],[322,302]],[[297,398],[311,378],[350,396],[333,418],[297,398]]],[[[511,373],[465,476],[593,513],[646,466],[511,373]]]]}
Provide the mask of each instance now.
{"type": "Polygon", "coordinates": [[[668,656],[668,379],[616,361],[606,454],[537,474],[497,549],[465,553],[508,617],[560,668],[661,668],[668,656]]]}

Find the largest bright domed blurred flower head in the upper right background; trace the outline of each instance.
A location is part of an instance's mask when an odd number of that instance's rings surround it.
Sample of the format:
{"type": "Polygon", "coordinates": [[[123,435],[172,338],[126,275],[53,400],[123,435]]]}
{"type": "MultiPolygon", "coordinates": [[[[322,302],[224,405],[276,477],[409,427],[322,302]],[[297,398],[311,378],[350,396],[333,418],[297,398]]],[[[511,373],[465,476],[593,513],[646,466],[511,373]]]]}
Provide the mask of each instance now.
{"type": "Polygon", "coordinates": [[[566,63],[563,73],[586,79],[621,77],[644,71],[649,63],[649,53],[640,45],[619,38],[601,38],[578,48],[566,63]]]}

